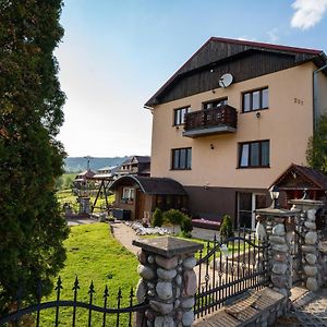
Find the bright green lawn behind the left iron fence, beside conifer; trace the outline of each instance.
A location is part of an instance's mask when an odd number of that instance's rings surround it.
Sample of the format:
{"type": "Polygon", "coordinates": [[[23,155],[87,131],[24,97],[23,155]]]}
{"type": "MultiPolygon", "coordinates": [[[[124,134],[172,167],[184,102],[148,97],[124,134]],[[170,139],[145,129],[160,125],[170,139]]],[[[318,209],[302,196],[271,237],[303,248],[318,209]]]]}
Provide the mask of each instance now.
{"type": "MultiPolygon", "coordinates": [[[[61,300],[73,300],[73,284],[75,276],[78,276],[78,301],[88,303],[88,287],[90,281],[95,286],[94,304],[102,305],[102,293],[106,284],[109,288],[110,307],[116,307],[117,293],[122,290],[122,306],[128,306],[131,287],[135,289],[138,280],[137,258],[125,250],[112,237],[107,223],[92,223],[71,228],[69,239],[64,242],[66,249],[65,267],[60,271],[63,290],[61,300]]],[[[56,299],[56,290],[45,301],[56,299]]],[[[77,308],[76,326],[87,326],[87,310],[77,308]]],[[[93,312],[93,326],[101,326],[102,315],[93,312]]],[[[107,326],[116,326],[114,317],[107,316],[107,326]]],[[[124,315],[121,317],[124,325],[124,315]]],[[[60,326],[71,326],[72,308],[60,308],[60,326]]],[[[55,310],[46,310],[41,313],[40,326],[53,326],[55,310]]],[[[126,320],[125,320],[126,322],[126,320]]]]}

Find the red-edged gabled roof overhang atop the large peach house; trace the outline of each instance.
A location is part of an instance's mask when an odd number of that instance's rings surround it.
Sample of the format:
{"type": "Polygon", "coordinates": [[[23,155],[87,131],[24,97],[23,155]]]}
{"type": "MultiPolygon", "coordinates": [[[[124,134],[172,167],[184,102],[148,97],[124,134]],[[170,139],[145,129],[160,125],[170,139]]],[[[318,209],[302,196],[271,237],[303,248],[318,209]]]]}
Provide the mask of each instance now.
{"type": "MultiPolygon", "coordinates": [[[[185,75],[195,74],[226,61],[233,61],[255,52],[274,52],[281,57],[289,56],[292,59],[288,63],[289,66],[306,61],[314,61],[317,66],[323,66],[327,62],[326,55],[322,50],[211,37],[152,96],[145,106],[160,104],[160,97],[185,75]]],[[[327,75],[327,69],[324,70],[324,73],[327,75]]]]}

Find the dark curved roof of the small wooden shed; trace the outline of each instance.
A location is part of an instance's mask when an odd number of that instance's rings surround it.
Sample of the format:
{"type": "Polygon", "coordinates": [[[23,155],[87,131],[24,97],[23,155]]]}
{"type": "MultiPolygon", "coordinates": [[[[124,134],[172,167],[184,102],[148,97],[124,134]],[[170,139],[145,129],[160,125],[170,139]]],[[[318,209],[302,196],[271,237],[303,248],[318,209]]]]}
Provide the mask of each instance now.
{"type": "Polygon", "coordinates": [[[184,187],[177,181],[167,178],[150,178],[138,175],[124,175],[116,180],[110,190],[116,190],[119,185],[131,185],[136,183],[146,194],[153,195],[186,195],[184,187]]]}

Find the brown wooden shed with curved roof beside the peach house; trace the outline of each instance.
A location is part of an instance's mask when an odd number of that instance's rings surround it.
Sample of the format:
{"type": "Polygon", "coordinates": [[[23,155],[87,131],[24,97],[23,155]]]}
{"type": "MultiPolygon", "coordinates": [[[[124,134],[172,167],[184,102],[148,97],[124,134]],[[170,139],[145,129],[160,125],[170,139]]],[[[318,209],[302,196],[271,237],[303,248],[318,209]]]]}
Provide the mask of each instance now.
{"type": "Polygon", "coordinates": [[[168,178],[124,175],[116,180],[114,207],[126,210],[132,220],[152,218],[156,208],[168,210],[187,206],[186,192],[177,181],[168,178]]]}

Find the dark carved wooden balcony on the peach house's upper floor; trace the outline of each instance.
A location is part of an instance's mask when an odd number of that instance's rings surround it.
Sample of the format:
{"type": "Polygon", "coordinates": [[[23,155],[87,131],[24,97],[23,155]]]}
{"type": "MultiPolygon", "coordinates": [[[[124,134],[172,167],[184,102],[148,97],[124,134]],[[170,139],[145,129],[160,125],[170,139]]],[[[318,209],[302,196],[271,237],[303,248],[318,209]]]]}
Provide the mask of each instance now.
{"type": "Polygon", "coordinates": [[[201,137],[213,134],[235,133],[237,126],[237,109],[223,105],[186,113],[183,136],[201,137]]]}

